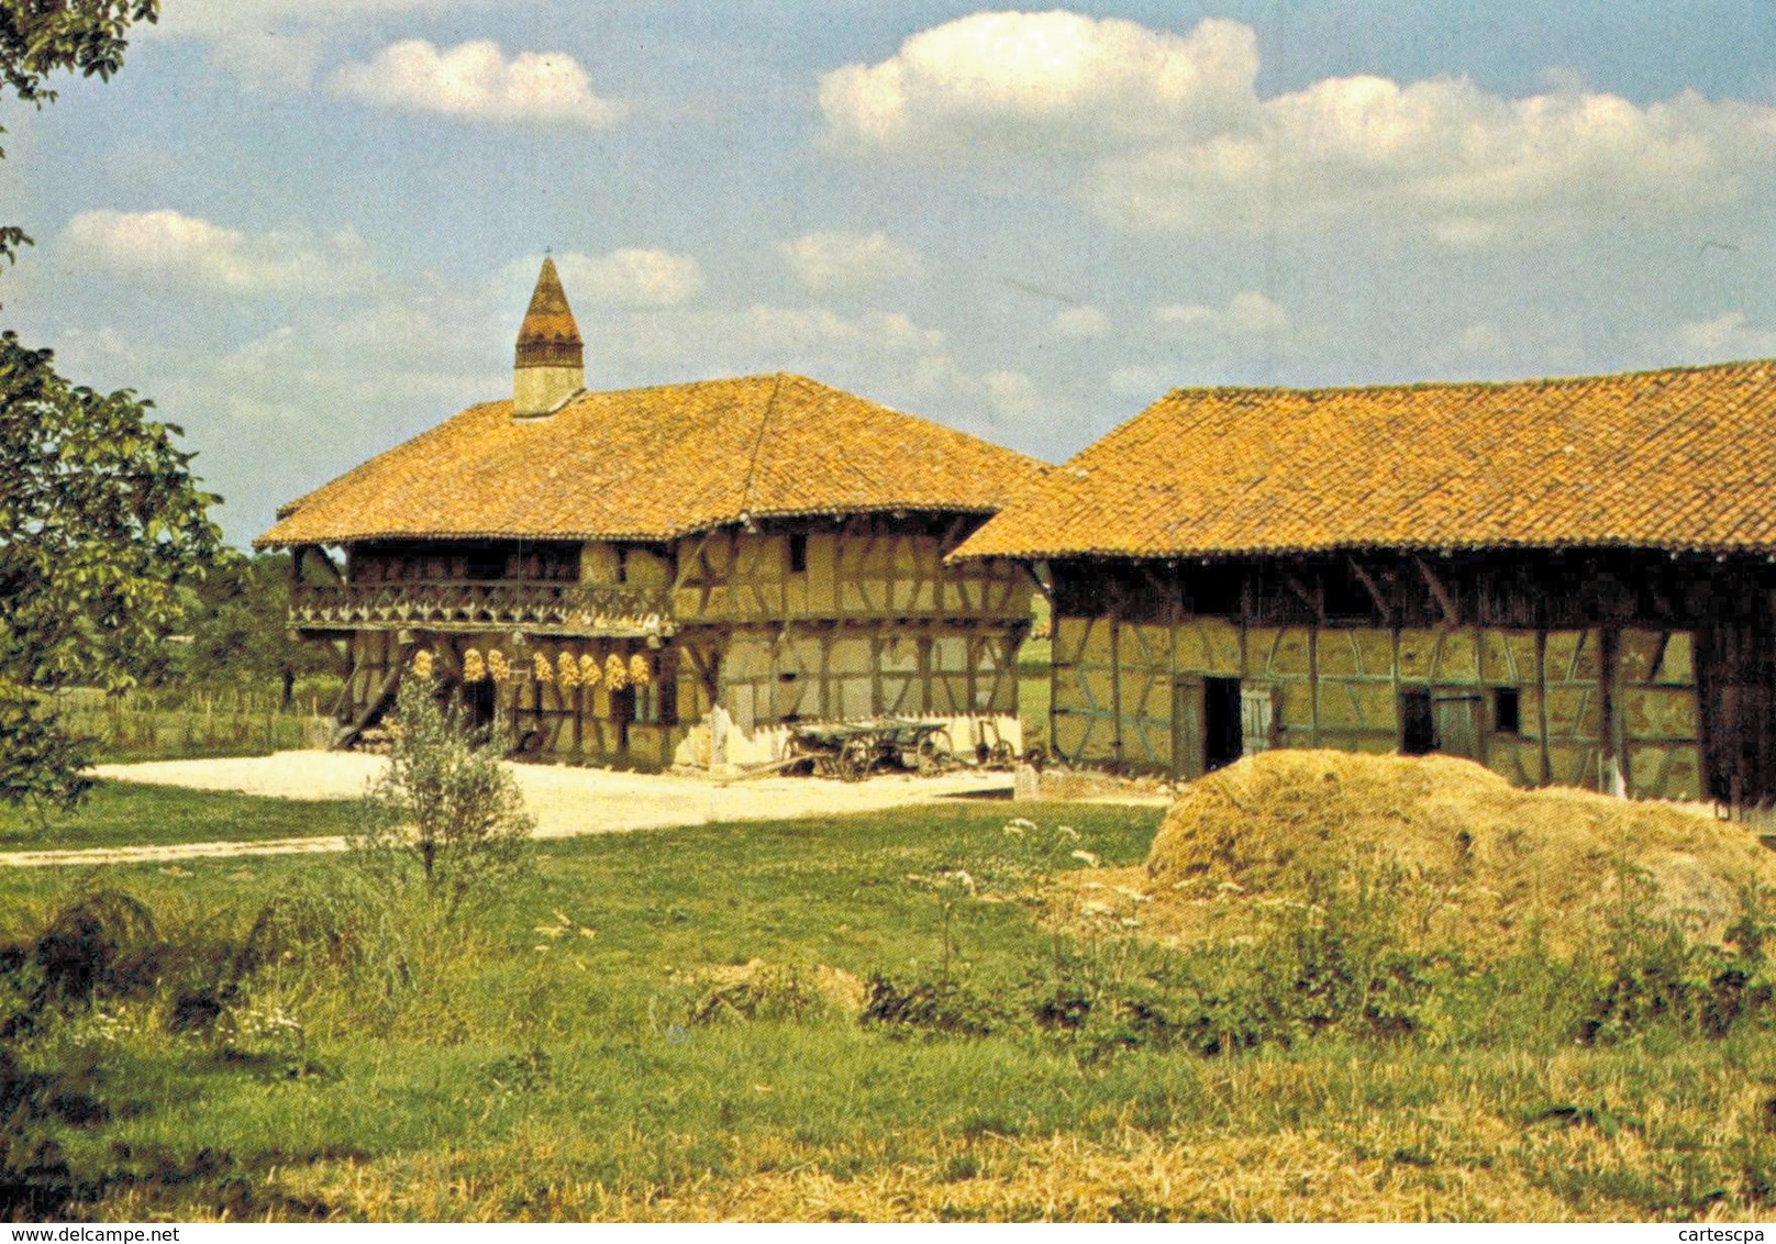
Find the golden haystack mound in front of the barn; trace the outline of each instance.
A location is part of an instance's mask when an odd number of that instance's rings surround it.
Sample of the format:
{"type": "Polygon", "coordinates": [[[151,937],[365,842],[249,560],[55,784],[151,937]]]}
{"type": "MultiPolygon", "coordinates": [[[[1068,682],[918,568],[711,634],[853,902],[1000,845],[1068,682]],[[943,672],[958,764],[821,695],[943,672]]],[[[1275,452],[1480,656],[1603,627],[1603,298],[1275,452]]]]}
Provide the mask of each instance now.
{"type": "Polygon", "coordinates": [[[1305,899],[1391,874],[1426,935],[1575,945],[1620,913],[1719,940],[1776,851],[1705,809],[1524,791],[1471,761],[1273,750],[1192,782],[1147,855],[1156,897],[1305,899]]]}

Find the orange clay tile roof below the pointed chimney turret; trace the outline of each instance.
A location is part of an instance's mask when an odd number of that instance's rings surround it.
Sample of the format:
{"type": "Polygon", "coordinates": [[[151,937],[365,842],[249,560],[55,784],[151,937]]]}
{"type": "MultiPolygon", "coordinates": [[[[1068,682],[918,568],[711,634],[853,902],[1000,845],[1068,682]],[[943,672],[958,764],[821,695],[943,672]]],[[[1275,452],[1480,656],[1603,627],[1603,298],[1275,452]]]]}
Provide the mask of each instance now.
{"type": "Polygon", "coordinates": [[[258,547],[664,540],[746,517],[991,514],[1043,464],[797,375],[474,405],[279,510],[258,547]]]}

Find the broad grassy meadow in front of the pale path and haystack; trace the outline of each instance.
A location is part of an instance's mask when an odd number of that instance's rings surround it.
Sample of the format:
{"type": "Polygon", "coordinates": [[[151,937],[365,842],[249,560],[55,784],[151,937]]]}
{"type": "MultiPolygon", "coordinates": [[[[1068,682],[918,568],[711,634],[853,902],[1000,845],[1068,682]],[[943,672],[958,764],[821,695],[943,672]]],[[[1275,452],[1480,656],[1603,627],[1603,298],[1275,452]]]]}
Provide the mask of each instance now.
{"type": "Polygon", "coordinates": [[[1181,1013],[1183,961],[1138,929],[1058,931],[1041,897],[1138,862],[1158,810],[1016,810],[1011,832],[1011,805],[959,801],[549,842],[451,924],[334,860],[0,869],[0,947],[27,947],[0,954],[0,1022],[28,947],[94,890],[139,899],[162,954],[151,985],[18,1041],[18,1082],[91,1105],[27,1120],[59,1146],[36,1178],[112,1219],[1776,1214],[1769,1033],[1579,1045],[1597,965],[1442,965],[1407,1034],[1204,1056],[1154,1018],[1181,1013]],[[169,1031],[279,894],[309,913],[281,928],[332,935],[291,933],[208,1031],[169,1031]],[[879,974],[876,1022],[824,988],[838,972],[879,974]],[[1082,983],[1121,990],[1115,1024],[1066,1022],[1082,983]],[[1041,999],[1058,1009],[1032,1022],[1041,999]]]}

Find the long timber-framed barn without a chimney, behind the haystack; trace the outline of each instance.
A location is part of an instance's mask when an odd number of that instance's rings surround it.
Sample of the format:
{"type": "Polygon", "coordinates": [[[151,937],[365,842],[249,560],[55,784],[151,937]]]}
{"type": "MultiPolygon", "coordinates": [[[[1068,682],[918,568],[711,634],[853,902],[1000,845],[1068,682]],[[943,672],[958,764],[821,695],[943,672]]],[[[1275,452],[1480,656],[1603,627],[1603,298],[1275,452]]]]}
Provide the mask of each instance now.
{"type": "Polygon", "coordinates": [[[1051,588],[1051,741],[1195,777],[1270,746],[1776,800],[1776,363],[1179,389],[957,558],[1051,588]],[[973,562],[973,560],[980,562],[973,562]]]}

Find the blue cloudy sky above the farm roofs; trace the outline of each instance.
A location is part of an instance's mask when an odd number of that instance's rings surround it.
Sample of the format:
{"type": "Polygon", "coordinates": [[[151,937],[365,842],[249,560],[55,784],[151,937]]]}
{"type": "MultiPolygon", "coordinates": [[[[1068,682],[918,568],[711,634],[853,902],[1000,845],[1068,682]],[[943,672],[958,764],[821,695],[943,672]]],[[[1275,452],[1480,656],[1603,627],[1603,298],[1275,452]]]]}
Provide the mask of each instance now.
{"type": "Polygon", "coordinates": [[[165,0],[0,105],[0,327],[245,544],[510,396],[799,371],[1062,460],[1181,386],[1776,355],[1776,4],[165,0]]]}

